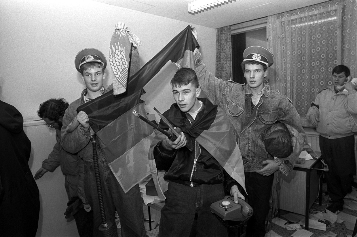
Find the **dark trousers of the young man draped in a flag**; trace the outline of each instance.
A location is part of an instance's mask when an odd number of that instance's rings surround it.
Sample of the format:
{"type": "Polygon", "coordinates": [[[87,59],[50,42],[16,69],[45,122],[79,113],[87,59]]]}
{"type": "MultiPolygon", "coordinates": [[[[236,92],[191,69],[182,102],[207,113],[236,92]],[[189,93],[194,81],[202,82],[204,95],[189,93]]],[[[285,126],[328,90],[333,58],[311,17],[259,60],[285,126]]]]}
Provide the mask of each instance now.
{"type": "Polygon", "coordinates": [[[190,236],[197,213],[197,237],[227,236],[227,228],[211,212],[213,202],[225,196],[223,184],[189,187],[169,181],[165,206],[161,210],[159,237],[190,236]]]}

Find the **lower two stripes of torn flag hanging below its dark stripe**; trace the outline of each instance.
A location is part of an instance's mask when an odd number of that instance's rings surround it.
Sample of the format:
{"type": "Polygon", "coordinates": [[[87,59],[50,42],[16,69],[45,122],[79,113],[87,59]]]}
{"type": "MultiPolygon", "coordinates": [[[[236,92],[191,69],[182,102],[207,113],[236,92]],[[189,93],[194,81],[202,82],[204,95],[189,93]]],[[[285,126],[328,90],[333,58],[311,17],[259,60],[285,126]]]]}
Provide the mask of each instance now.
{"type": "MultiPolygon", "coordinates": [[[[132,110],[145,115],[144,101],[132,110]]],[[[124,192],[150,174],[149,153],[154,129],[132,116],[132,110],[96,133],[107,162],[124,192]]]]}

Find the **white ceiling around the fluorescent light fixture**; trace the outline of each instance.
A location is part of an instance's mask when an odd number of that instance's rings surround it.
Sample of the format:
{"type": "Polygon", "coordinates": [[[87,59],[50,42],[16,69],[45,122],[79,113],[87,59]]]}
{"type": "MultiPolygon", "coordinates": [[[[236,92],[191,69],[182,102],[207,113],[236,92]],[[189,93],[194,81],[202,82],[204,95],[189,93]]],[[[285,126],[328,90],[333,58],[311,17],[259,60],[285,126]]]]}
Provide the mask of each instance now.
{"type": "Polygon", "coordinates": [[[193,25],[219,28],[317,4],[326,0],[230,0],[197,14],[187,11],[189,0],[94,0],[193,25]]]}

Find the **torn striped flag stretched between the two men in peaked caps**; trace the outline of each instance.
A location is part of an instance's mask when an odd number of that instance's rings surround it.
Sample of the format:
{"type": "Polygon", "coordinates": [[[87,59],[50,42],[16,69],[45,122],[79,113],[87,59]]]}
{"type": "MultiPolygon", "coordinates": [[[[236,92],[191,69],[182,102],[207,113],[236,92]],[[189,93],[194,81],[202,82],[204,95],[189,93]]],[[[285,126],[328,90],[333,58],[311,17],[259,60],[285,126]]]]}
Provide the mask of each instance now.
{"type": "Polygon", "coordinates": [[[87,113],[109,166],[125,192],[150,174],[148,153],[155,135],[131,111],[146,114],[140,100],[142,88],[168,61],[195,69],[193,51],[199,45],[191,30],[187,26],[135,74],[131,75],[129,66],[126,92],[114,96],[112,89],[77,108],[87,113]]]}

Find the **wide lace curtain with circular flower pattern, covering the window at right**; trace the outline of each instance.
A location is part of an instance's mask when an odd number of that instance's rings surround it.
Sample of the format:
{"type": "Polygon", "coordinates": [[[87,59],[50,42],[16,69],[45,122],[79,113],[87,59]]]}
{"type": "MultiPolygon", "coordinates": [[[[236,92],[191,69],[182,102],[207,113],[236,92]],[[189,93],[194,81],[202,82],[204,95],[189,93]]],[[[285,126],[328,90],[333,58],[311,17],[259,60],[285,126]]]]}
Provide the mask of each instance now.
{"type": "Polygon", "coordinates": [[[333,67],[355,68],[356,9],[356,0],[332,0],[268,17],[268,48],[275,56],[268,80],[301,116],[332,84],[333,67]]]}

